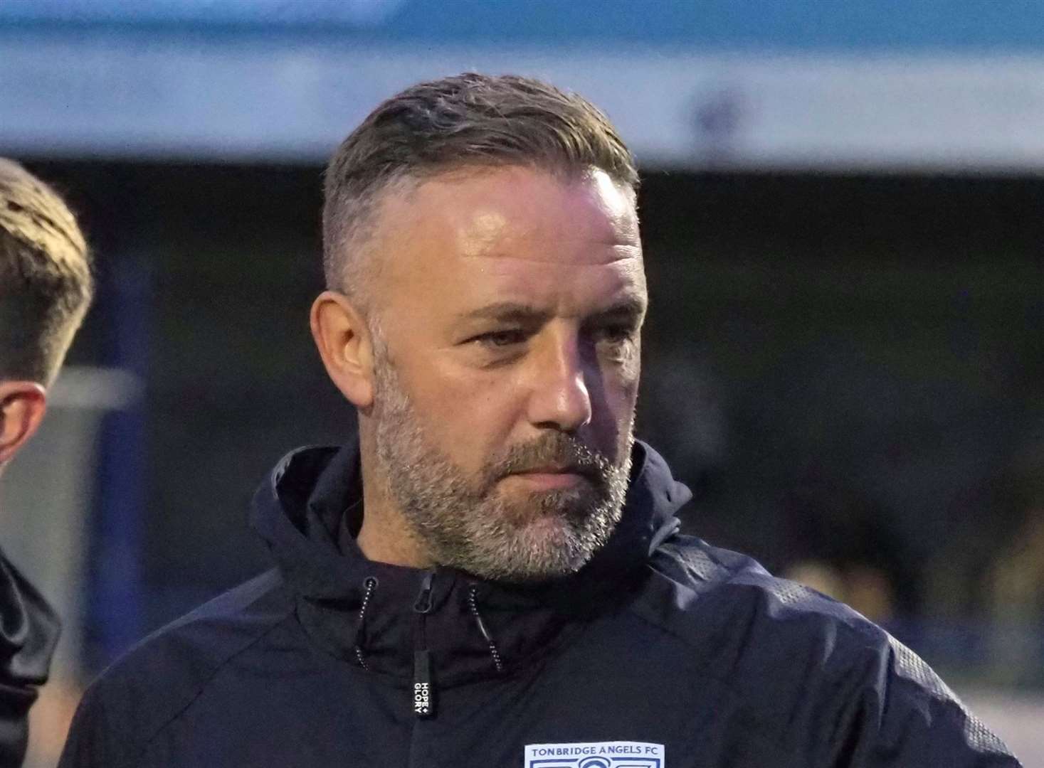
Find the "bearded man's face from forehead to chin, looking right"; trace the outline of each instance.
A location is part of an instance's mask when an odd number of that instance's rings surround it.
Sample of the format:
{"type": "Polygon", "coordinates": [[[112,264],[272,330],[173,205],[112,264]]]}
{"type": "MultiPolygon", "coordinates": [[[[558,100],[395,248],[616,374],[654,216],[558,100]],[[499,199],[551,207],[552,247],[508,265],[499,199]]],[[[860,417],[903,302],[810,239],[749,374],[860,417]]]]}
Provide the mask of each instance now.
{"type": "Polygon", "coordinates": [[[382,207],[380,475],[431,559],[580,568],[619,520],[646,306],[631,194],[603,172],[435,177],[382,207]]]}

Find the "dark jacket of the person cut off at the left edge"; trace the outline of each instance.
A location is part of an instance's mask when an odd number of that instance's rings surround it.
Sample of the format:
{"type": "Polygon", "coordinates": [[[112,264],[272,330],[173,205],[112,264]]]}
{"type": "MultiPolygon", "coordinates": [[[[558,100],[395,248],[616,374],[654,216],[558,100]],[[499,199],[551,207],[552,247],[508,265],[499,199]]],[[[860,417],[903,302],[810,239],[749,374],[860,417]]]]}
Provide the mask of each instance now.
{"type": "Polygon", "coordinates": [[[22,765],[29,707],[58,640],[47,601],[0,553],[0,768],[22,765]]]}

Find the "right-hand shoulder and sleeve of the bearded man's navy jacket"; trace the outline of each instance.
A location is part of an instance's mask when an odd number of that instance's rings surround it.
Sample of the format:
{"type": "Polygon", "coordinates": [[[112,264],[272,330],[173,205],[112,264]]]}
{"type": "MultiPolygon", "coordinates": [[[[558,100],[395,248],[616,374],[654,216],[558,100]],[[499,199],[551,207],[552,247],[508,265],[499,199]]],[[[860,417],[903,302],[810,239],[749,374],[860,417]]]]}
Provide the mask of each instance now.
{"type": "Polygon", "coordinates": [[[691,536],[671,537],[650,565],[639,610],[765,733],[785,722],[835,735],[788,749],[829,765],[1018,765],[920,656],[844,603],[691,536]]]}

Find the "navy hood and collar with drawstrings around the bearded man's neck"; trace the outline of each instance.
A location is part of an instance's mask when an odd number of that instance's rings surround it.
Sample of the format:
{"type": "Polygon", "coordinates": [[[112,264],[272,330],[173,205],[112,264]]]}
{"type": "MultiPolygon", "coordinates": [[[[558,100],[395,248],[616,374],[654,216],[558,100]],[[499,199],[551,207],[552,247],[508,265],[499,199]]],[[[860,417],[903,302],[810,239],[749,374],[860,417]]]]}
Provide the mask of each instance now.
{"type": "Polygon", "coordinates": [[[363,514],[356,441],[285,456],[255,495],[252,525],[293,593],[302,625],[329,652],[408,677],[420,614],[441,681],[453,683],[522,664],[567,624],[615,603],[624,581],[679,529],[674,512],[690,497],[664,459],[636,441],[623,514],[607,545],[576,574],[527,585],[366,559],[342,535],[358,530],[363,514]]]}

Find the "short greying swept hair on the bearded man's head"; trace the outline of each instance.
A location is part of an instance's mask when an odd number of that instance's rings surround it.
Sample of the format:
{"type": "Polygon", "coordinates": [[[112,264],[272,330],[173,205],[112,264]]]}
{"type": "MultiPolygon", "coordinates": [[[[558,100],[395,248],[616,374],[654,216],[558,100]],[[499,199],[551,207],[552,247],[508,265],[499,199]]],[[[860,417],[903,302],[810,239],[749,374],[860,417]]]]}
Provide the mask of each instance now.
{"type": "Polygon", "coordinates": [[[541,80],[465,73],[412,86],[381,103],[341,143],[326,171],[327,287],[364,306],[365,240],[382,193],[469,168],[523,166],[576,175],[604,171],[632,191],[635,159],[594,104],[541,80]]]}

